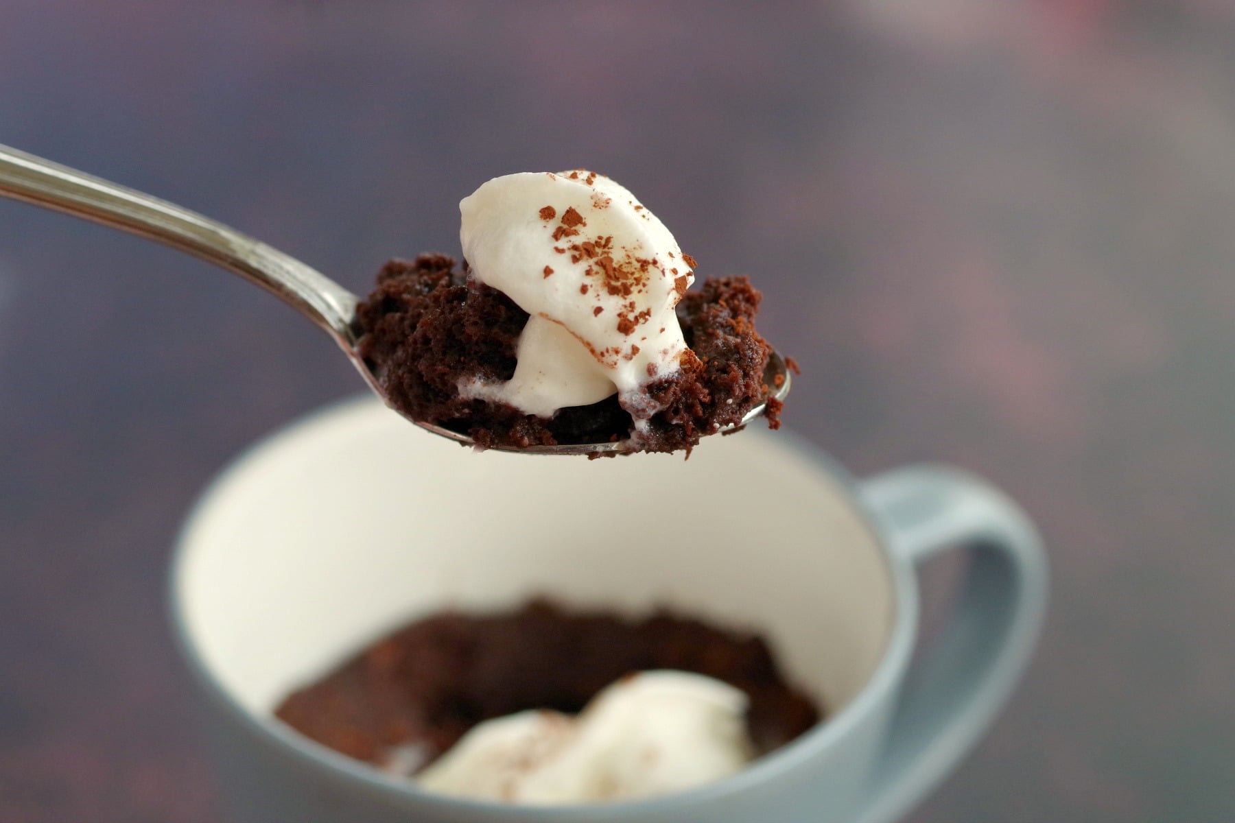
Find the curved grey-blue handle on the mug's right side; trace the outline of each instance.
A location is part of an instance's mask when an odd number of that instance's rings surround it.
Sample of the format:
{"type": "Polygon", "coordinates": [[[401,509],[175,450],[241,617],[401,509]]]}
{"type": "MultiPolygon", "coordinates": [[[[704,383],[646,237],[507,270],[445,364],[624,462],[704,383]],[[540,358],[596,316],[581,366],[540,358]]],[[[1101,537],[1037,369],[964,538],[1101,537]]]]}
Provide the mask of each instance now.
{"type": "Polygon", "coordinates": [[[1042,623],[1046,555],[1025,513],[960,469],[906,466],[862,481],[858,494],[894,556],[916,565],[952,548],[969,554],[941,635],[905,674],[857,818],[889,823],[961,761],[1007,701],[1042,623]]]}

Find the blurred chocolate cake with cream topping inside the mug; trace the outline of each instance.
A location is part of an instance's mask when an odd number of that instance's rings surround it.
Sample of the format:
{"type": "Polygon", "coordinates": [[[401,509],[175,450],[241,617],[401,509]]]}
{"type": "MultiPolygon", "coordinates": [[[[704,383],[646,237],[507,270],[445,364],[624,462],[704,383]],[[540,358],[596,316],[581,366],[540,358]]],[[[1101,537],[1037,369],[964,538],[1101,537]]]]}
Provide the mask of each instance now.
{"type": "Polygon", "coordinates": [[[690,788],[819,721],[758,637],[546,601],[421,619],[277,714],[429,790],[527,804],[690,788]]]}

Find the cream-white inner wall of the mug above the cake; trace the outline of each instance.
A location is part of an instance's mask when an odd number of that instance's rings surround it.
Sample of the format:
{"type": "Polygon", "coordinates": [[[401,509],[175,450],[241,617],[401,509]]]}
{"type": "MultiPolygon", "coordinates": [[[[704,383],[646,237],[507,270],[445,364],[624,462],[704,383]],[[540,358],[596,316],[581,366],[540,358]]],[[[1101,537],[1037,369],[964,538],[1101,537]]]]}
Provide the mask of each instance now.
{"type": "Polygon", "coordinates": [[[892,635],[883,550],[818,453],[779,433],[680,455],[473,454],[371,399],[247,453],[198,505],[174,608],[246,711],[419,616],[536,595],[752,629],[834,713],[892,635]]]}

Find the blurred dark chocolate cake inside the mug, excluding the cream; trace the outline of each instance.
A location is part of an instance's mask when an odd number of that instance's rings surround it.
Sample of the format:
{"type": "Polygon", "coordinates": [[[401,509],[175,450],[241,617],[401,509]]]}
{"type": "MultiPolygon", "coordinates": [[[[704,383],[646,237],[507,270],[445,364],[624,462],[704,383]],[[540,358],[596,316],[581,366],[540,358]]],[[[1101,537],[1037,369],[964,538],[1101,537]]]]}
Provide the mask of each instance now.
{"type": "Polygon", "coordinates": [[[275,713],[351,758],[380,766],[412,749],[424,767],[482,721],[532,708],[577,713],[620,677],[655,669],[708,675],[746,692],[761,754],[820,719],[760,637],[664,611],[626,621],[546,600],[415,622],[291,693],[275,713]]]}

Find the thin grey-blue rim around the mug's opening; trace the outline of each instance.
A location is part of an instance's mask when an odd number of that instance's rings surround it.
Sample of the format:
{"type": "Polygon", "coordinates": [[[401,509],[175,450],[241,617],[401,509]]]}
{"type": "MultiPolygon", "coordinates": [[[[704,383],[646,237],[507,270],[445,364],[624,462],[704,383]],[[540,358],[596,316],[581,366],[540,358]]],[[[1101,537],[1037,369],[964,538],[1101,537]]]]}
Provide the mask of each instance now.
{"type": "Polygon", "coordinates": [[[835,491],[853,512],[862,529],[879,549],[879,561],[892,587],[892,632],[884,644],[879,663],[857,695],[836,713],[827,716],[814,728],[783,746],[762,755],[740,771],[708,782],[695,788],[641,800],[608,801],[604,803],[574,803],[567,806],[517,806],[492,801],[459,798],[421,788],[408,777],[387,775],[371,764],[348,758],[316,740],[312,740],[272,716],[261,716],[245,708],[222,684],[215,671],[203,659],[193,632],[188,624],[182,598],[182,580],[189,553],[189,537],[205,517],[210,503],[231,485],[251,464],[282,443],[304,431],[321,426],[332,417],[342,417],[352,410],[373,406],[380,401],[371,395],[356,395],[325,403],[300,415],[270,432],[261,436],[232,455],[194,497],[177,533],[167,575],[167,607],[172,623],[174,644],[189,668],[196,685],[211,702],[222,708],[246,732],[283,751],[300,765],[326,770],[338,779],[354,782],[366,791],[377,792],[403,803],[422,807],[425,811],[471,812],[489,814],[496,821],[578,821],[580,813],[603,813],[605,819],[624,819],[677,808],[722,801],[735,793],[805,767],[820,753],[835,746],[863,717],[876,711],[889,692],[894,691],[900,674],[909,661],[918,626],[918,589],[909,563],[895,555],[887,534],[878,526],[871,507],[862,500],[860,482],[834,458],[803,436],[782,428],[777,439],[788,439],[794,450],[806,455],[823,474],[834,481],[835,491]]]}

